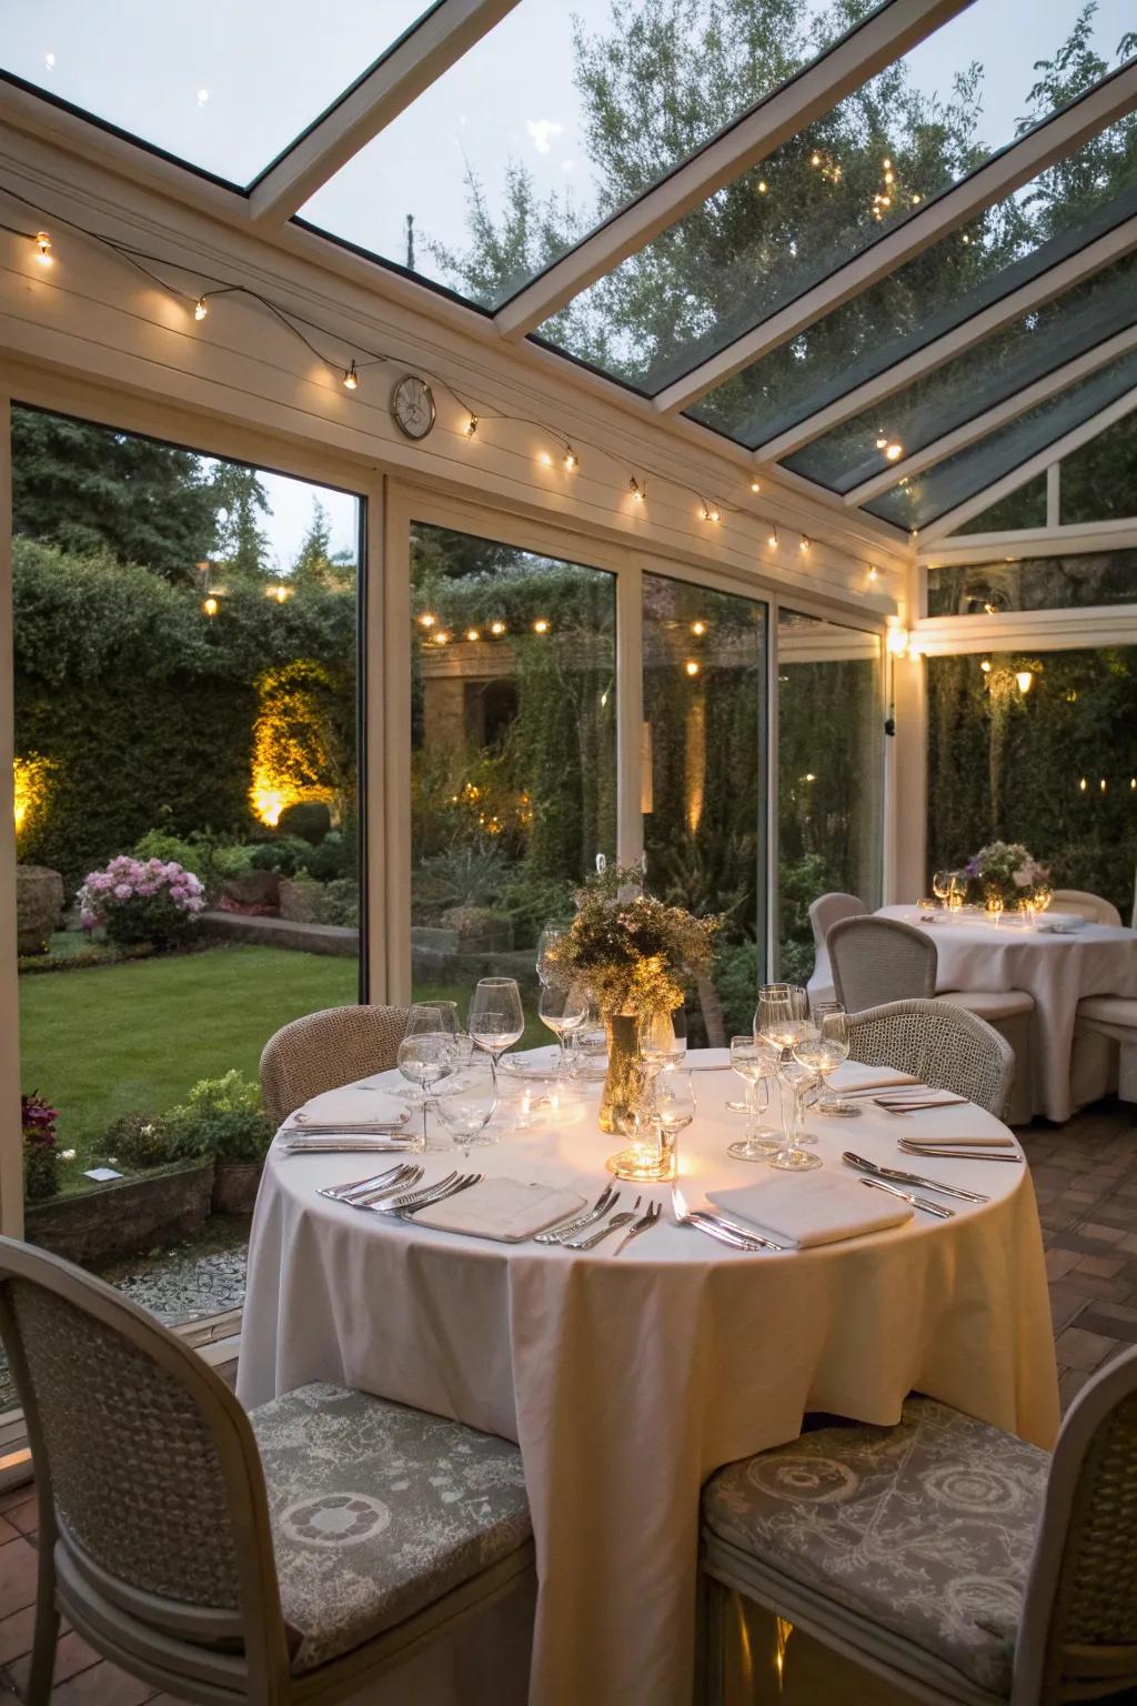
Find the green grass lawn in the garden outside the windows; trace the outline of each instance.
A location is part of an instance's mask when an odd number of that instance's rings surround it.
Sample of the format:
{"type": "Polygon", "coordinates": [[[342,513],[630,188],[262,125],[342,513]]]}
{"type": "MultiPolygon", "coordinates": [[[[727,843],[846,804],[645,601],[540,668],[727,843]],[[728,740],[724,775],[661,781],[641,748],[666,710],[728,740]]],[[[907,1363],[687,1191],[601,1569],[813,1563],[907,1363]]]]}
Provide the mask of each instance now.
{"type": "MultiPolygon", "coordinates": [[[[164,1114],[198,1078],[230,1066],[256,1078],[280,1025],[349,1005],[356,989],[353,959],[237,945],[20,978],[22,1088],[60,1111],[60,1146],[89,1165],[106,1157],[104,1133],[119,1114],[164,1114]]],[[[470,996],[445,983],[414,993],[457,1001],[462,1015],[470,996]]],[[[522,1047],[549,1041],[527,1012],[522,1047]]]]}

